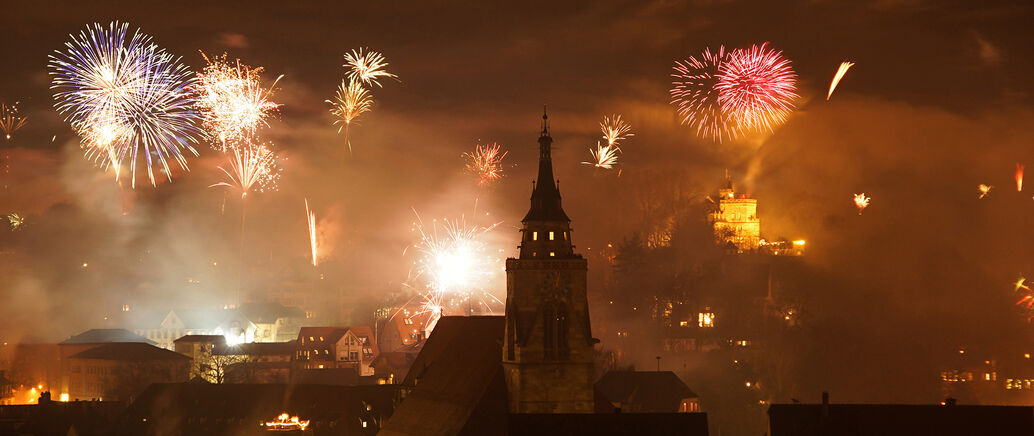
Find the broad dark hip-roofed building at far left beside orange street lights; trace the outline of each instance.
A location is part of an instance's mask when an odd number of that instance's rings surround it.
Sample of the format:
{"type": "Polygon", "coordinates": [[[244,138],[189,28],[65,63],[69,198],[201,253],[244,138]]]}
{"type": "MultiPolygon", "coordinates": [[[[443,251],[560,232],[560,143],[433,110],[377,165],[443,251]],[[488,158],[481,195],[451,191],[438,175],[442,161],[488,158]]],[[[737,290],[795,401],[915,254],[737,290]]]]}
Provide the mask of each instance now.
{"type": "Polygon", "coordinates": [[[190,357],[139,342],[110,343],[68,356],[70,400],[125,401],[151,383],[186,381],[190,357]]]}

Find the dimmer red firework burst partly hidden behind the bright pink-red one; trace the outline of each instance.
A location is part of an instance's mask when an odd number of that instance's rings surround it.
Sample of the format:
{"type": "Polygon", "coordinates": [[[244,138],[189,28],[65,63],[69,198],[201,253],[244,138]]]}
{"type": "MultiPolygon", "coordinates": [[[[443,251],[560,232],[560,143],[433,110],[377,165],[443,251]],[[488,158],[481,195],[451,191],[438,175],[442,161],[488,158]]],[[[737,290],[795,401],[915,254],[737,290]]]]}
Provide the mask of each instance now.
{"type": "Polygon", "coordinates": [[[671,103],[678,110],[681,123],[693,127],[700,137],[719,143],[736,138],[740,131],[731,123],[719,101],[716,88],[722,63],[729,59],[725,46],[717,52],[705,49],[699,59],[675,61],[671,85],[671,103]]]}

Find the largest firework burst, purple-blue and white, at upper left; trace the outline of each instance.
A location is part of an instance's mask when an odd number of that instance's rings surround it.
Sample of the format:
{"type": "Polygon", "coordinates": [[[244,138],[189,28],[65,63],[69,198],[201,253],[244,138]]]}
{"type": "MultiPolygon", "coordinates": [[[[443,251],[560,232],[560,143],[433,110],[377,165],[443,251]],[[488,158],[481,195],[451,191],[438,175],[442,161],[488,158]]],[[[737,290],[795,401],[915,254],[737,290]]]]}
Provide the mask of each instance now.
{"type": "Polygon", "coordinates": [[[183,151],[197,155],[190,145],[201,133],[188,91],[193,79],[180,58],[139,30],[128,36],[128,27],[117,22],[108,28],[94,24],[79,36],[69,35],[65,51],[50,56],[51,88],[58,113],[82,136],[87,150],[107,150],[103,155],[116,166],[128,160],[133,187],[142,157],[151,185],[156,185],[155,166],[172,181],[168,160],[188,169],[183,151]],[[97,133],[112,130],[111,126],[118,126],[120,134],[97,133]],[[102,136],[113,141],[94,144],[102,136]]]}

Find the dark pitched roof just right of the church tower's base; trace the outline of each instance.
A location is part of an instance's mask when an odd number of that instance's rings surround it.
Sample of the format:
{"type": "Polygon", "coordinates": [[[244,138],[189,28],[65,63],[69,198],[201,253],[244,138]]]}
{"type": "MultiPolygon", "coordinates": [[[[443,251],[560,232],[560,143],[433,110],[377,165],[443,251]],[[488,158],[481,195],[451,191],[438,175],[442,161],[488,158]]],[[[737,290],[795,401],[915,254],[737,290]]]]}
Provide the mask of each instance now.
{"type": "Polygon", "coordinates": [[[608,371],[596,391],[635,412],[677,412],[683,398],[697,398],[671,371],[608,371]]]}

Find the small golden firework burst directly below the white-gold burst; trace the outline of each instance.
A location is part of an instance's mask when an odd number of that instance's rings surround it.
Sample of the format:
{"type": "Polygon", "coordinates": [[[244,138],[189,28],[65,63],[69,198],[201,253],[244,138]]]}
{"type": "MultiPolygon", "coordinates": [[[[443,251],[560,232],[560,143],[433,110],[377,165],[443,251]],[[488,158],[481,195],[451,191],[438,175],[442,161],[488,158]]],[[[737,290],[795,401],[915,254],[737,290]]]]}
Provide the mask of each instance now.
{"type": "Polygon", "coordinates": [[[227,166],[219,165],[219,170],[225,176],[225,181],[209,187],[225,186],[239,190],[241,198],[248,192],[275,191],[280,180],[280,167],[276,153],[263,144],[248,144],[231,149],[233,154],[226,154],[230,160],[227,166]]]}

